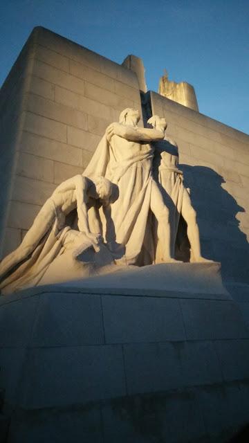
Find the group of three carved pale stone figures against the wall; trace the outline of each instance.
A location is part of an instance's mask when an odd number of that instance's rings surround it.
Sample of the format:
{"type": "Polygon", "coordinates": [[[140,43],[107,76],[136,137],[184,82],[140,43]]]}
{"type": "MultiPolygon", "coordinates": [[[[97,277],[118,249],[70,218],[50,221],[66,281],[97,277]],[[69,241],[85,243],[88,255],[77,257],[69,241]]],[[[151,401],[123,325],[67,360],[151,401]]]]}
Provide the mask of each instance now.
{"type": "Polygon", "coordinates": [[[186,260],[188,242],[191,262],[208,261],[167,123],[152,116],[151,128],[142,128],[139,119],[136,109],[124,109],[83,174],[55,189],[23,242],[2,260],[2,293],[70,280],[72,269],[84,278],[116,266],[186,260]]]}

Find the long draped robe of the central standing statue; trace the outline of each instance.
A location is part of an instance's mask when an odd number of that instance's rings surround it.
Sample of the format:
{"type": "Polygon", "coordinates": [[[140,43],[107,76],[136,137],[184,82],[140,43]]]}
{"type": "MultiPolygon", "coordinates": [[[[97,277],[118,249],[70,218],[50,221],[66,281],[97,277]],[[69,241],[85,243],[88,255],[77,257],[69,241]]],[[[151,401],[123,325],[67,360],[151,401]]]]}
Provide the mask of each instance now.
{"type": "MultiPolygon", "coordinates": [[[[119,197],[100,213],[104,241],[117,264],[147,264],[145,232],[151,199],[151,162],[154,149],[148,143],[125,141],[119,136],[111,142],[103,136],[84,176],[103,176],[116,183],[119,197]]],[[[89,214],[91,226],[91,215],[89,214]]],[[[146,235],[147,237],[147,235],[146,235]]],[[[148,243],[148,239],[146,239],[148,243]]],[[[149,251],[151,253],[151,251],[149,251]]],[[[153,260],[151,253],[151,261],[153,260]]]]}

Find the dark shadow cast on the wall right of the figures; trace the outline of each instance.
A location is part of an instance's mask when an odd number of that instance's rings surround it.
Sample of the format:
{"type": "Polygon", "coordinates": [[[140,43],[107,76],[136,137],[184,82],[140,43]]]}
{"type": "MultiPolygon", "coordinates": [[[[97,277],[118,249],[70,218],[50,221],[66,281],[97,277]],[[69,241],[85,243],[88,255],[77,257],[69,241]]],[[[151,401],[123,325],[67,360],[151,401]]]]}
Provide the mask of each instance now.
{"type": "Polygon", "coordinates": [[[224,280],[248,282],[249,244],[236,215],[244,208],[222,188],[225,179],[211,168],[180,164],[197,212],[203,256],[221,262],[224,280]]]}

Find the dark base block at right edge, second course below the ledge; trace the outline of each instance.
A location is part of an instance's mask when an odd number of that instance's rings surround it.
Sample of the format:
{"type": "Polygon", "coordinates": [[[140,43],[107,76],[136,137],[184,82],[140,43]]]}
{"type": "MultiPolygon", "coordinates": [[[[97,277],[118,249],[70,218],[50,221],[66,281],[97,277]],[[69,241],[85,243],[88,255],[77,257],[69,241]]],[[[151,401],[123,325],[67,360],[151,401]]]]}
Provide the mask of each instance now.
{"type": "Polygon", "coordinates": [[[225,381],[248,379],[249,340],[216,341],[214,347],[221,362],[225,381]]]}

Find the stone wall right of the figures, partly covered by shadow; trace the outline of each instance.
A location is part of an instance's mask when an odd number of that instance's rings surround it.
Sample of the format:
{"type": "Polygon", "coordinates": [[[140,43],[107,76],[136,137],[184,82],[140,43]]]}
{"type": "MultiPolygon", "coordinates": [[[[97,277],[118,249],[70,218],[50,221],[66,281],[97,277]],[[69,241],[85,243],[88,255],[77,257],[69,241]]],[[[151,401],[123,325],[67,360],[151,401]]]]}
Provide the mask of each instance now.
{"type": "Polygon", "coordinates": [[[229,280],[248,280],[249,136],[150,93],[152,114],[165,117],[178,143],[180,169],[198,216],[203,254],[229,280]]]}

